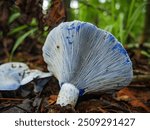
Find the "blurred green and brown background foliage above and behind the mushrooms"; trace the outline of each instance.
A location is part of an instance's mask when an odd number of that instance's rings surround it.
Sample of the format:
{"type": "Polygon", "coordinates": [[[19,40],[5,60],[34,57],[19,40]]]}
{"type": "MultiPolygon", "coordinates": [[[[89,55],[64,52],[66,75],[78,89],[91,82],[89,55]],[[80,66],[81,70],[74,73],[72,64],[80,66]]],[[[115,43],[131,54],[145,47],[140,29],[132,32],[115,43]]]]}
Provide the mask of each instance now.
{"type": "Polygon", "coordinates": [[[43,44],[52,28],[72,20],[91,22],[150,58],[150,0],[1,0],[0,47],[12,60],[23,43],[43,44]]]}

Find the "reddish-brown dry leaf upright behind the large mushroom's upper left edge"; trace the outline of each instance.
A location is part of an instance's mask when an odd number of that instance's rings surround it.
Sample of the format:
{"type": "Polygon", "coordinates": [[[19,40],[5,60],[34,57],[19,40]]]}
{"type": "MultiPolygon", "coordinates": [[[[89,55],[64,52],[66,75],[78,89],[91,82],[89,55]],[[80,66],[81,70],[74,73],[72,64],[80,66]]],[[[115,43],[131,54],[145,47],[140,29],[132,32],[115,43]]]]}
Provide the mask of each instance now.
{"type": "Polygon", "coordinates": [[[62,0],[52,0],[51,7],[45,18],[46,24],[51,28],[65,19],[65,7],[62,0]]]}

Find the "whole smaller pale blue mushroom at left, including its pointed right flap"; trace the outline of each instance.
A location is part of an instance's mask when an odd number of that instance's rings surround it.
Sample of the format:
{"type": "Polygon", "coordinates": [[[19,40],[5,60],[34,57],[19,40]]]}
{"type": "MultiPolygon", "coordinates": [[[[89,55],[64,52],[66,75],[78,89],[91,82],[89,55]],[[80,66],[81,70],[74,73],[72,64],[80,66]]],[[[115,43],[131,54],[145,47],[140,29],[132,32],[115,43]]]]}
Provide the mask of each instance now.
{"type": "Polygon", "coordinates": [[[16,90],[33,81],[34,91],[39,92],[51,75],[39,70],[30,70],[21,62],[8,62],[0,65],[0,90],[16,90]]]}

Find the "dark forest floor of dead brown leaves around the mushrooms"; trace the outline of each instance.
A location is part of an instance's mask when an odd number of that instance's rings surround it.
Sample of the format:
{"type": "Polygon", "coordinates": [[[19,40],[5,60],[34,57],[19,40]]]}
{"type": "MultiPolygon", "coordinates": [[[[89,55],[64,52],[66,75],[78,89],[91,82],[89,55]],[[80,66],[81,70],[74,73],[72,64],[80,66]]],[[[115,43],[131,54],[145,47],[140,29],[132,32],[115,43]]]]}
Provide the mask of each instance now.
{"type": "MultiPolygon", "coordinates": [[[[8,50],[1,45],[0,64],[8,62],[8,50]]],[[[30,42],[21,45],[13,61],[24,62],[30,68],[47,71],[42,58],[42,45],[30,42]]],[[[34,93],[33,85],[28,84],[16,91],[0,91],[1,113],[47,113],[47,112],[150,112],[150,61],[145,57],[136,57],[136,50],[128,50],[133,61],[134,79],[129,86],[115,92],[86,94],[79,97],[75,108],[70,105],[56,105],[59,93],[58,81],[52,77],[41,93],[34,93]]]]}

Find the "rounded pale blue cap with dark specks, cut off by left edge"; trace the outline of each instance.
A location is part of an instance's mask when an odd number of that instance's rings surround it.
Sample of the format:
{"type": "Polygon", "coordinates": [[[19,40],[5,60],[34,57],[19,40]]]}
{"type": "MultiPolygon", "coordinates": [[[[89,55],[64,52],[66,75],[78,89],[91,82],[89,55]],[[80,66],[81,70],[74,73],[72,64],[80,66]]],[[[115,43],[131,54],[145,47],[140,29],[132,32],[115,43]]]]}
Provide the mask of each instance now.
{"type": "Polygon", "coordinates": [[[8,62],[0,65],[0,90],[16,90],[29,67],[20,62],[8,62]]]}

